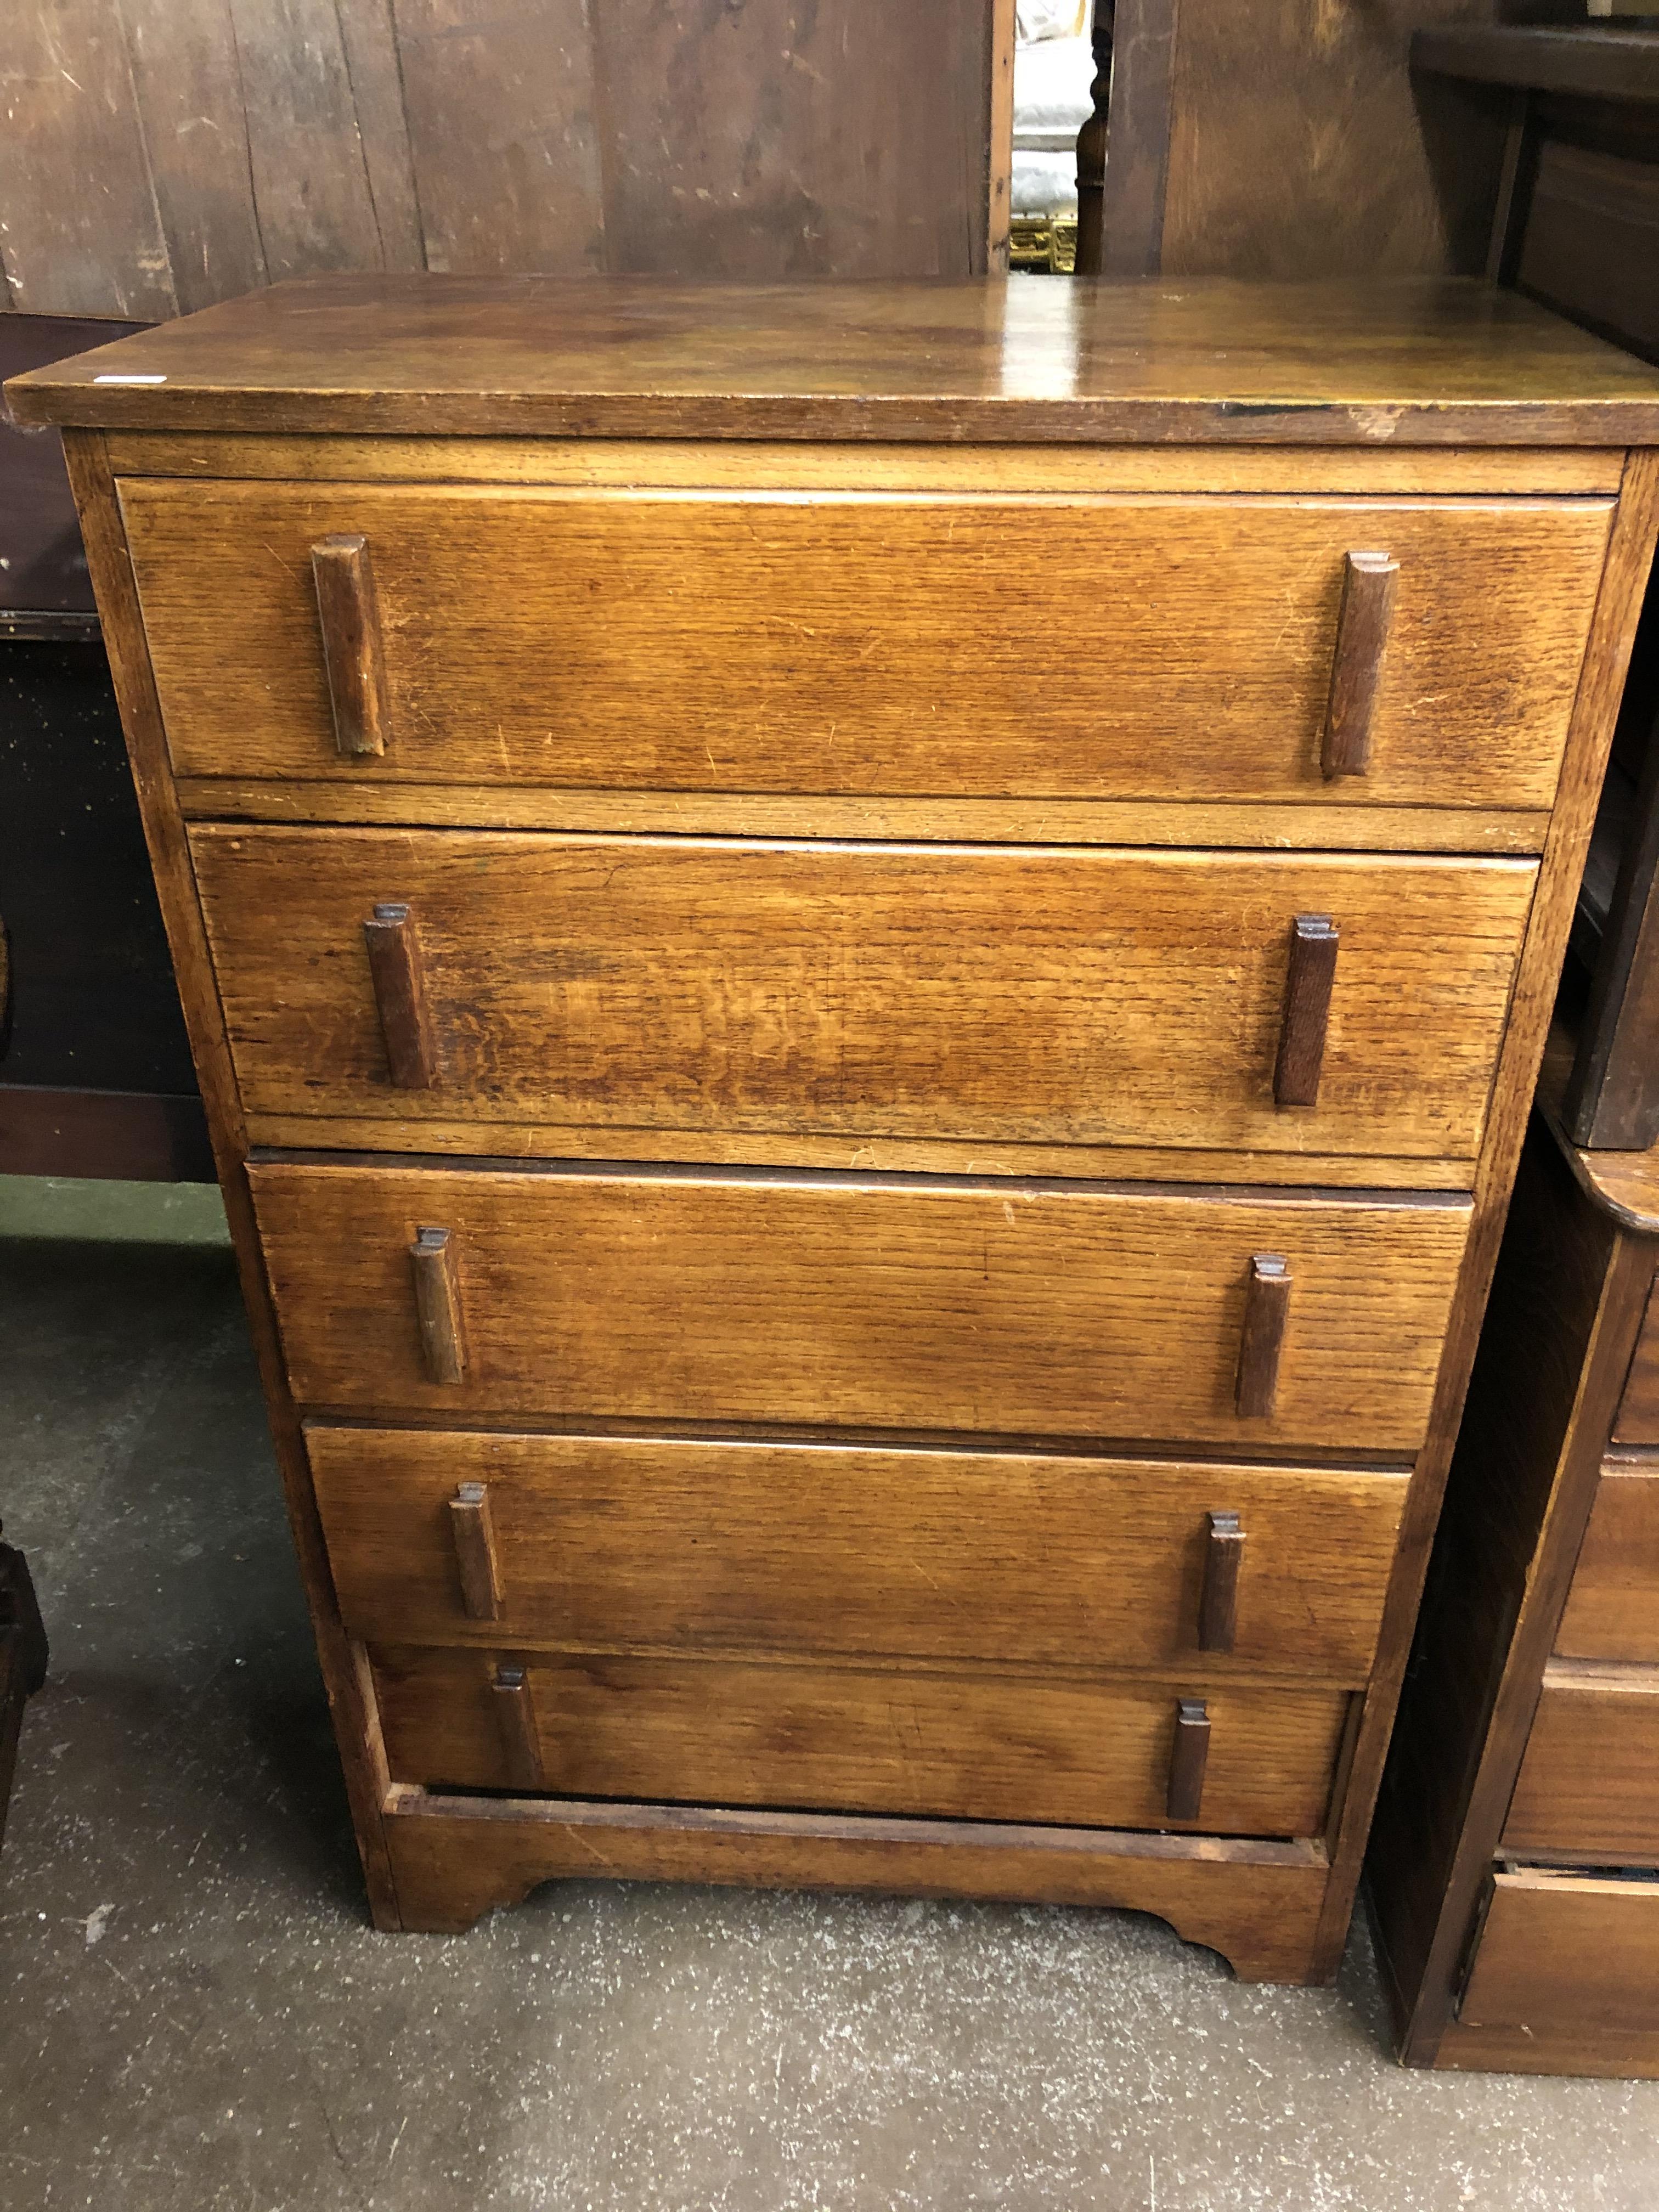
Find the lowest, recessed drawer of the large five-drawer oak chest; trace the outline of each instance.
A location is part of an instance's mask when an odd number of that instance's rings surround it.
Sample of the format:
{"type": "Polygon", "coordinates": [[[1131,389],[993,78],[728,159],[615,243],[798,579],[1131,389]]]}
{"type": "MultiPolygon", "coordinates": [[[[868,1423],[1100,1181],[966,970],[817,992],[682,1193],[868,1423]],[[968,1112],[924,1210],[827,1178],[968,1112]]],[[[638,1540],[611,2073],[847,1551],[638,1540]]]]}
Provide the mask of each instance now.
{"type": "Polygon", "coordinates": [[[392,1778],[1314,1836],[1340,1690],[891,1666],[372,1652],[392,1778]],[[1183,1703],[1186,1701],[1186,1703],[1183,1703]]]}

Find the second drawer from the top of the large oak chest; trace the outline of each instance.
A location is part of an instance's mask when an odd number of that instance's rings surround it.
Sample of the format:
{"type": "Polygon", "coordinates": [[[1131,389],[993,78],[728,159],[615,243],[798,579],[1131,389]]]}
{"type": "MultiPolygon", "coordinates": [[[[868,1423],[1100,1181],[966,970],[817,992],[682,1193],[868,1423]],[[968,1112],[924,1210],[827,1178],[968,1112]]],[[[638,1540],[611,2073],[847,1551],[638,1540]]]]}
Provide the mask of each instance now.
{"type": "Polygon", "coordinates": [[[480,1152],[491,1121],[575,1121],[1473,1161],[1537,874],[246,827],[190,849],[243,1108],[478,1121],[480,1152]],[[416,1071],[376,1000],[383,905],[418,947],[416,1071]],[[1276,1104],[1307,914],[1338,931],[1314,1104],[1276,1104]]]}

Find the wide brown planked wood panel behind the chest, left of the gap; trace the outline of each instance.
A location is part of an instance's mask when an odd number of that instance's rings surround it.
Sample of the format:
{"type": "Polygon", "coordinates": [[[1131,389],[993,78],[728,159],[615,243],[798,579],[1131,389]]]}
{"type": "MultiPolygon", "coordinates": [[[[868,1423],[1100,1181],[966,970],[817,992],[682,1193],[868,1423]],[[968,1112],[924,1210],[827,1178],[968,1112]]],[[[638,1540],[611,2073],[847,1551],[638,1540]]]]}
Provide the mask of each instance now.
{"type": "MultiPolygon", "coordinates": [[[[1011,0],[11,0],[4,305],[316,270],[964,276],[1011,0]]],[[[1000,219],[993,166],[1002,175],[1000,219]]]]}

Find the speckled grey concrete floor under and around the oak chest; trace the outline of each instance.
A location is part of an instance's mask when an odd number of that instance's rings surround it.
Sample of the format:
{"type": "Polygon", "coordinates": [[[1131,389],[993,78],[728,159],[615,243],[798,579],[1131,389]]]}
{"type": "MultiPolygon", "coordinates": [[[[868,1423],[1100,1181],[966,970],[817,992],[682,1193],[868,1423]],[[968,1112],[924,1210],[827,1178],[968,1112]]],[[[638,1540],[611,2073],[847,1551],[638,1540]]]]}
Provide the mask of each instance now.
{"type": "Polygon", "coordinates": [[[1013,1907],[562,1887],[374,1936],[212,1194],[0,1183],[4,1228],[0,1511],[53,1637],[4,2212],[1659,2205],[1659,2084],[1400,2073],[1363,1936],[1312,1993],[1013,1907]]]}

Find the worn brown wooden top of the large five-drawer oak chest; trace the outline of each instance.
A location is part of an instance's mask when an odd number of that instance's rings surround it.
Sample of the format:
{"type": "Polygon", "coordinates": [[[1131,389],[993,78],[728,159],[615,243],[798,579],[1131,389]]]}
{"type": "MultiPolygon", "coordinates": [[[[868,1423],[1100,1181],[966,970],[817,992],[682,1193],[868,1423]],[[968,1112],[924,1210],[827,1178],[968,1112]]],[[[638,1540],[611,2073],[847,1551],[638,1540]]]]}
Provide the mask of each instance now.
{"type": "Polygon", "coordinates": [[[7,394],[31,422],[310,436],[1659,440],[1659,374],[1462,279],[316,276],[7,394]]]}

